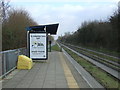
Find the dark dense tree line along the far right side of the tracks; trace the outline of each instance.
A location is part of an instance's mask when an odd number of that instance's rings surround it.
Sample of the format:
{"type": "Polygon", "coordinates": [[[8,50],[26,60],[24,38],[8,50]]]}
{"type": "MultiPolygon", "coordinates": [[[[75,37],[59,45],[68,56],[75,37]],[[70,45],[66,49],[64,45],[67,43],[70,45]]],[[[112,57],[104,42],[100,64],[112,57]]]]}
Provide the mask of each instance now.
{"type": "Polygon", "coordinates": [[[58,40],[95,48],[120,51],[120,12],[116,11],[107,21],[83,22],[81,27],[74,33],[65,33],[58,40]]]}

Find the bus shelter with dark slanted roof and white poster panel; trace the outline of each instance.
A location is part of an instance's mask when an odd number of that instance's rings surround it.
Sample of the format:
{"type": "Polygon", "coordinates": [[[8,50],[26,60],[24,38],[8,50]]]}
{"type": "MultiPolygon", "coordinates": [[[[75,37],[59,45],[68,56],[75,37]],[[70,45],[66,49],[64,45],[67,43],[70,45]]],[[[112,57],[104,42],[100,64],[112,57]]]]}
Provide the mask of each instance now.
{"type": "Polygon", "coordinates": [[[48,59],[48,34],[56,35],[58,25],[59,24],[49,24],[29,26],[26,28],[28,56],[32,60],[48,59]]]}

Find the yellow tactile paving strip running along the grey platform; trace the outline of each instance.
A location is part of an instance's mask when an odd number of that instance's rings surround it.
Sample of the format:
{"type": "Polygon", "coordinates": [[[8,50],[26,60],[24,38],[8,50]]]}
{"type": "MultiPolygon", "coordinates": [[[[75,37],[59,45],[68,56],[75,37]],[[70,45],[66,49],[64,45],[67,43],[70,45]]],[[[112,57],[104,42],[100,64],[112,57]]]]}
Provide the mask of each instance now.
{"type": "Polygon", "coordinates": [[[76,80],[74,79],[69,67],[66,64],[66,61],[63,58],[62,53],[59,53],[59,55],[60,55],[60,58],[61,58],[61,63],[63,65],[65,77],[66,77],[69,88],[79,88],[79,86],[78,86],[76,80]]]}

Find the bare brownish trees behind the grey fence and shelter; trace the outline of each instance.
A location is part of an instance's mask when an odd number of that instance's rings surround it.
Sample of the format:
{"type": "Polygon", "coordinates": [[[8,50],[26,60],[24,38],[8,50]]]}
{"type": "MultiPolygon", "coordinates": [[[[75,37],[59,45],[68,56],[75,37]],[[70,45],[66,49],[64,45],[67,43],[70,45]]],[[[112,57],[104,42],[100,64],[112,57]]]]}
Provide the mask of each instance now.
{"type": "MultiPolygon", "coordinates": [[[[26,27],[38,25],[30,14],[23,9],[8,9],[9,2],[0,2],[2,22],[2,51],[27,47],[26,27]],[[4,13],[3,13],[4,12],[4,13]]],[[[48,35],[49,40],[54,38],[48,35]]]]}

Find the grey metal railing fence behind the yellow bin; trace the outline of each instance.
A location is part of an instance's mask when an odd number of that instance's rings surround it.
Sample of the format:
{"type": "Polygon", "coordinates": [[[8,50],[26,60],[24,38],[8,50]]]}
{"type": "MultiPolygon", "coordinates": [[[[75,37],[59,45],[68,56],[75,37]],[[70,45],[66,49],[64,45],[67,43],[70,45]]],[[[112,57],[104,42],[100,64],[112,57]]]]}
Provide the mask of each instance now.
{"type": "Polygon", "coordinates": [[[5,77],[17,65],[18,55],[27,55],[26,48],[0,52],[0,77],[5,77]]]}

